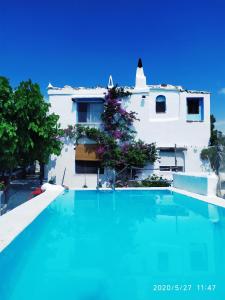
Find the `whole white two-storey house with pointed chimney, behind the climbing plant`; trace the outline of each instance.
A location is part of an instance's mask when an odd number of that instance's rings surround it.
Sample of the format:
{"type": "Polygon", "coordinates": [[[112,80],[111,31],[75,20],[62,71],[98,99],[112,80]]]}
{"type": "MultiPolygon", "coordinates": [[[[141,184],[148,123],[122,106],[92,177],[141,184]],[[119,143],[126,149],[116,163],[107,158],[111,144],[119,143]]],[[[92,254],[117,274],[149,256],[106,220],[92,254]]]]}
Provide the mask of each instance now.
{"type": "MultiPolygon", "coordinates": [[[[108,88],[112,86],[110,76],[108,88]]],[[[154,166],[146,166],[140,176],[144,178],[152,172],[168,176],[175,169],[201,172],[204,166],[200,152],[210,138],[210,93],[170,84],[147,85],[141,60],[134,88],[125,89],[131,96],[123,99],[123,105],[128,111],[137,112],[140,119],[134,124],[137,138],[155,142],[159,150],[160,160],[154,166]]],[[[100,127],[107,91],[102,87],[58,88],[49,84],[51,111],[60,116],[62,128],[75,124],[100,127]]],[[[99,161],[94,153],[85,158],[85,147],[94,151],[93,141],[80,141],[75,151],[74,144],[65,140],[61,155],[51,157],[48,179],[56,177],[57,183],[70,187],[82,187],[85,182],[88,187],[95,187],[99,161]]],[[[102,176],[107,175],[104,172],[102,176]]]]}

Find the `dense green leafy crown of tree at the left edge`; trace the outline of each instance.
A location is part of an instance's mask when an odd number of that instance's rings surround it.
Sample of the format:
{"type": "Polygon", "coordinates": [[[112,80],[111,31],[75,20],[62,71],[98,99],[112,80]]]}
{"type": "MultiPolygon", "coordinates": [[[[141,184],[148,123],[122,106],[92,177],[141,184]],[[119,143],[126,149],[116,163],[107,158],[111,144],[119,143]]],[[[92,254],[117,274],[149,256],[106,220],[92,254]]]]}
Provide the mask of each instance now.
{"type": "Polygon", "coordinates": [[[47,163],[51,154],[59,155],[63,131],[59,117],[49,113],[40,87],[23,81],[15,91],[0,77],[0,168],[10,170],[38,160],[47,163]]]}

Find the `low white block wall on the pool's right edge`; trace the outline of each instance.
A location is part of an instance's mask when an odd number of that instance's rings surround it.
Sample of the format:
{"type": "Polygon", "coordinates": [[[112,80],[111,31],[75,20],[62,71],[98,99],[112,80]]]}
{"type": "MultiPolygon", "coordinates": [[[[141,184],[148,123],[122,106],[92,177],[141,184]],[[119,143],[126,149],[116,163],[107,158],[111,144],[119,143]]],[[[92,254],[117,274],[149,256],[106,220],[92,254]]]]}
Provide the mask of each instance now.
{"type": "Polygon", "coordinates": [[[216,196],[217,182],[215,174],[173,173],[175,188],[204,196],[216,196]]]}

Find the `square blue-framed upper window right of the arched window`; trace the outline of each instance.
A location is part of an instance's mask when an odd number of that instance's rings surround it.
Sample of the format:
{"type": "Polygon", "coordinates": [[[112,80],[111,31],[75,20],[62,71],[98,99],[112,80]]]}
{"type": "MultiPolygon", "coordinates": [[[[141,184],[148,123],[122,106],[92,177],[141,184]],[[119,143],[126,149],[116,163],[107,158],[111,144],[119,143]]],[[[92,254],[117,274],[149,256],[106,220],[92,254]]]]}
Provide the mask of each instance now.
{"type": "Polygon", "coordinates": [[[201,122],[204,120],[203,98],[187,98],[187,121],[201,122]]]}

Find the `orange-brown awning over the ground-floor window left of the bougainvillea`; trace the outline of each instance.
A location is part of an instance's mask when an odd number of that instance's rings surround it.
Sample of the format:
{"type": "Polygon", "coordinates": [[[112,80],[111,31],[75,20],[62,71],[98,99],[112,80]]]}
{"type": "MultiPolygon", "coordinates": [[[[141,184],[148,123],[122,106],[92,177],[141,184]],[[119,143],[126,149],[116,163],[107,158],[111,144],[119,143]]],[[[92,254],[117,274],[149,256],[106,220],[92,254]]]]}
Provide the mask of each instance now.
{"type": "Polygon", "coordinates": [[[76,147],[76,160],[87,160],[87,161],[100,161],[96,144],[79,144],[76,147]]]}

